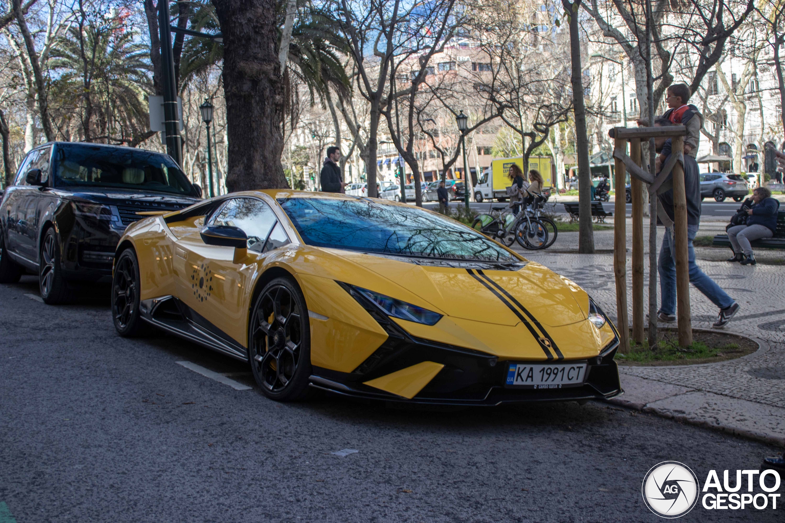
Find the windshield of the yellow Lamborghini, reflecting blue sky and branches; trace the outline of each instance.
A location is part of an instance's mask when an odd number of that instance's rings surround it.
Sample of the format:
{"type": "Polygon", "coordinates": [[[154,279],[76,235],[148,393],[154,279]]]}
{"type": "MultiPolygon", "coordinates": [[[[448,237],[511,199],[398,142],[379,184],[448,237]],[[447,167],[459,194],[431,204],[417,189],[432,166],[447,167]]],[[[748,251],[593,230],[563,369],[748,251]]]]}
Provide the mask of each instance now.
{"type": "Polygon", "coordinates": [[[442,260],[520,263],[484,235],[422,209],[328,198],[280,198],[278,202],[308,245],[442,260]]]}

